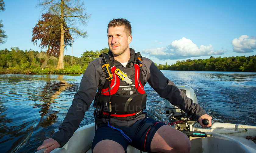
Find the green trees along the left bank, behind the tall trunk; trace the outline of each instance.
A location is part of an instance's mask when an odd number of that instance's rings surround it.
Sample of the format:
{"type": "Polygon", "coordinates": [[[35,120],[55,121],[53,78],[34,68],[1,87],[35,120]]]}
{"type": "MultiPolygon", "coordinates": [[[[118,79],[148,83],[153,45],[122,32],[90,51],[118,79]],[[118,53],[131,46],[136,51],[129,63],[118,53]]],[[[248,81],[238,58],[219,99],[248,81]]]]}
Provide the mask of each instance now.
{"type": "MultiPolygon", "coordinates": [[[[87,67],[87,65],[98,58],[100,54],[108,53],[108,48],[101,50],[87,51],[81,54],[81,57],[75,57],[70,55],[64,55],[64,68],[70,68],[73,65],[79,65],[87,67]]],[[[30,49],[29,51],[20,50],[18,47],[13,47],[10,50],[7,48],[0,50],[0,68],[38,68],[42,66],[42,63],[48,59],[46,68],[57,68],[59,58],[56,56],[48,57],[46,52],[38,52],[30,49]]]]}

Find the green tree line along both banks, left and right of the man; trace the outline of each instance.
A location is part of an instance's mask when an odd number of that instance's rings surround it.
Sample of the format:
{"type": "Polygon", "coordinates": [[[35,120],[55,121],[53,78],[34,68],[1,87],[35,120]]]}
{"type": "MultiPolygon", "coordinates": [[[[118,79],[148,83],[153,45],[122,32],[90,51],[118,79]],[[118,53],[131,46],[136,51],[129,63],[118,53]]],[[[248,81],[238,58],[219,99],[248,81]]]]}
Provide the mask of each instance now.
{"type": "MultiPolygon", "coordinates": [[[[96,51],[85,51],[81,57],[64,55],[64,68],[70,68],[73,65],[79,65],[80,68],[86,68],[87,65],[98,58],[100,54],[108,53],[108,48],[103,48],[96,51]]],[[[0,68],[40,68],[46,58],[49,58],[46,68],[55,69],[58,65],[58,57],[48,57],[46,52],[38,52],[32,49],[20,50],[18,47],[13,47],[10,50],[7,48],[0,50],[0,68]]],[[[232,57],[210,57],[209,59],[188,59],[186,61],[177,61],[176,64],[155,65],[160,70],[177,70],[177,71],[244,71],[256,72],[256,56],[232,56],[232,57]]],[[[42,67],[41,67],[42,69],[42,67]]]]}

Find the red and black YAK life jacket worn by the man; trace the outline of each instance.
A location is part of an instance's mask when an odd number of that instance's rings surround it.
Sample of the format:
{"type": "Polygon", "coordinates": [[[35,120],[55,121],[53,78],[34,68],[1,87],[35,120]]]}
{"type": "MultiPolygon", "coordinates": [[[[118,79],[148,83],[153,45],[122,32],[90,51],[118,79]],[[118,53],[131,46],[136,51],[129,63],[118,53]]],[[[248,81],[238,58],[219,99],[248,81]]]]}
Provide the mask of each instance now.
{"type": "Polygon", "coordinates": [[[98,89],[98,93],[94,100],[94,107],[98,108],[103,115],[112,117],[128,117],[140,114],[146,107],[147,95],[144,91],[143,76],[141,74],[141,55],[136,53],[134,65],[130,68],[123,66],[115,66],[109,59],[108,55],[105,58],[109,60],[113,79],[105,82],[105,88],[98,89]],[[140,59],[140,60],[139,60],[140,59]],[[115,70],[127,74],[132,81],[129,85],[116,75],[115,70]],[[107,85],[106,85],[107,84],[107,85]],[[110,90],[109,90],[110,89],[110,90]]]}

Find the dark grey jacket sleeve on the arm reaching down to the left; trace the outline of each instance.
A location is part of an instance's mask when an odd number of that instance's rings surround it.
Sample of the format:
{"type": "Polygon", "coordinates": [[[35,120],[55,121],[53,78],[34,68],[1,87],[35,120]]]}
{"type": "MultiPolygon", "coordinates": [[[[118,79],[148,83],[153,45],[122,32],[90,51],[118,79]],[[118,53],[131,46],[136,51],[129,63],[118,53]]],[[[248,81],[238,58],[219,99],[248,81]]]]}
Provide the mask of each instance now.
{"type": "MultiPolygon", "coordinates": [[[[88,111],[97,92],[99,85],[100,69],[99,61],[92,61],[87,66],[81,79],[78,92],[76,92],[72,105],[70,106],[66,117],[51,138],[55,139],[63,147],[79,127],[84,118],[85,111],[88,111]],[[96,62],[96,63],[95,63],[96,62]]],[[[101,69],[102,71],[102,69],[101,69]]]]}

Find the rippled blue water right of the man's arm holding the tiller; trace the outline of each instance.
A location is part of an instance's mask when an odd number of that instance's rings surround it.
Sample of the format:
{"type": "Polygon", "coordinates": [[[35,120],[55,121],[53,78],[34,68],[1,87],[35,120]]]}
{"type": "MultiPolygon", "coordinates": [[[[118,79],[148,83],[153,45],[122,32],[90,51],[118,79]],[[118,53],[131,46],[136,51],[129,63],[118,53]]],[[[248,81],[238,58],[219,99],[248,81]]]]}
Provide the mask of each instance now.
{"type": "Polygon", "coordinates": [[[163,71],[175,84],[194,88],[213,122],[256,126],[256,73],[163,71]],[[185,76],[185,77],[184,77],[185,76]]]}

